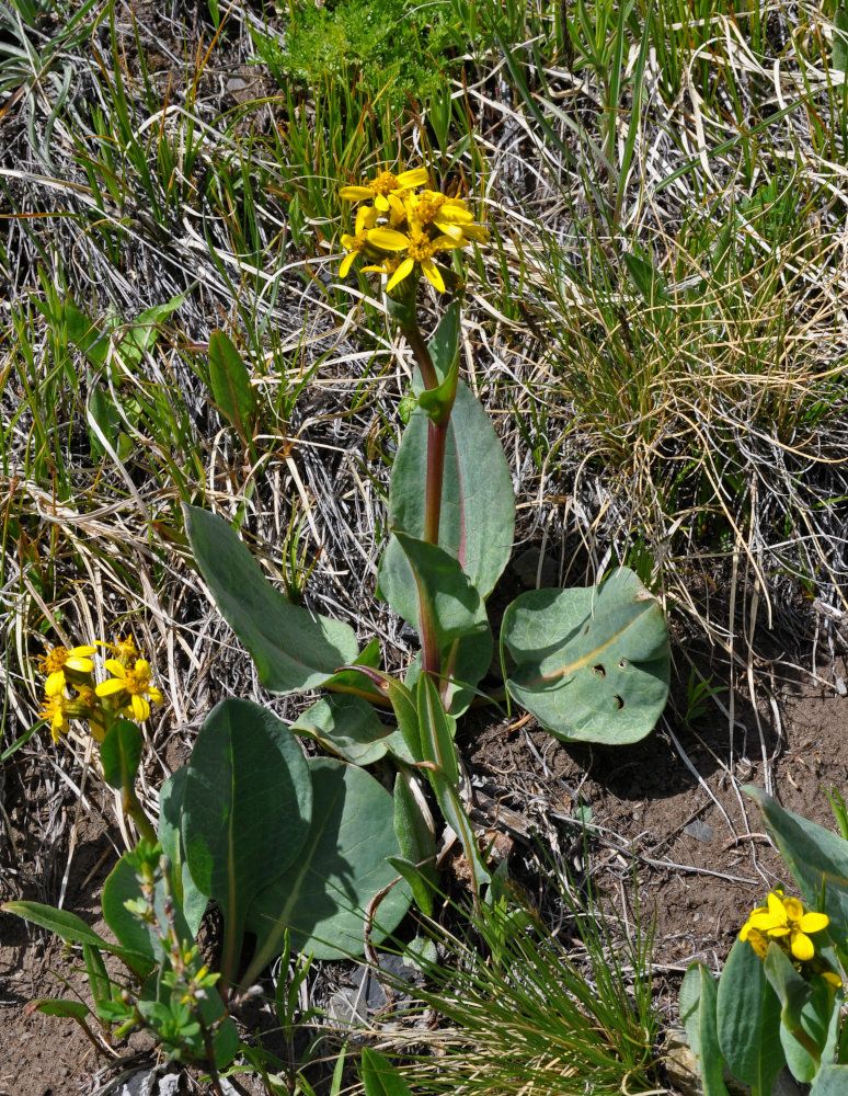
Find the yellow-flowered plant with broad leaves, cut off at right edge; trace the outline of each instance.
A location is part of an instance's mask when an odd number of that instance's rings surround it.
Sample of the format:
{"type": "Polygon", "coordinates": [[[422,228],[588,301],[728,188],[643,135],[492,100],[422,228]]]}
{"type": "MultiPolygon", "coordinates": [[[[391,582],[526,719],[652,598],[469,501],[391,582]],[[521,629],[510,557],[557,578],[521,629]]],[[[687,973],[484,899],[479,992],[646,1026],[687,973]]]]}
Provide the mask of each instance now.
{"type": "Polygon", "coordinates": [[[725,1068],[752,1096],[770,1096],[784,1065],[812,1086],[811,1096],[839,1096],[848,1085],[841,1017],[848,841],[758,788],[745,790],[759,803],[807,905],[775,889],[742,927],[718,984],[702,963],[687,971],[680,1016],[704,1096],[727,1096],[725,1068]]]}

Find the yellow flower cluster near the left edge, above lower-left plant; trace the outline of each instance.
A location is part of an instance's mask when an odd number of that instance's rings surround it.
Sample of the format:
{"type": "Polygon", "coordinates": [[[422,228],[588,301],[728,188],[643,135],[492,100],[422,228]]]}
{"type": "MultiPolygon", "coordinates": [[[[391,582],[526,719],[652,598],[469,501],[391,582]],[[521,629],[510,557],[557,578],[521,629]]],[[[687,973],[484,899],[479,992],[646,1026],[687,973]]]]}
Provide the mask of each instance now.
{"type": "Polygon", "coordinates": [[[116,643],[95,640],[91,647],[51,647],[39,662],[45,677],[41,717],[49,721],[54,742],[68,733],[71,719],[88,721],[102,742],[118,716],[140,723],[150,716],[151,700],[162,703],[162,693],[150,682],[150,663],[139,658],[131,636],[116,643]],[[92,660],[98,647],[114,655],[104,663],[112,676],[100,685],[94,684],[92,660]]]}

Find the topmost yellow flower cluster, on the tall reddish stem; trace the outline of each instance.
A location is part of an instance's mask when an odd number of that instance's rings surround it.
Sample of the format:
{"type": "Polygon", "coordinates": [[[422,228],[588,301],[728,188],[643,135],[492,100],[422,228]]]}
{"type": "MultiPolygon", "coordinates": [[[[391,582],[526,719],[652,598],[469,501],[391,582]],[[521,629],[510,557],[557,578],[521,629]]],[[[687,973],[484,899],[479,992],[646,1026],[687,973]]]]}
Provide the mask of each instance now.
{"type": "Polygon", "coordinates": [[[393,174],[381,171],[360,186],[343,186],[340,196],[348,202],[373,202],[356,212],[354,235],[345,233],[342,244],[347,254],[339,273],[346,277],[354,259],[371,262],[364,271],[387,274],[387,293],[412,275],[424,274],[439,293],[445,279],[434,262],[442,251],[483,242],[488,232],[474,221],[462,198],[451,198],[428,190],[426,168],[413,168],[393,174]]]}

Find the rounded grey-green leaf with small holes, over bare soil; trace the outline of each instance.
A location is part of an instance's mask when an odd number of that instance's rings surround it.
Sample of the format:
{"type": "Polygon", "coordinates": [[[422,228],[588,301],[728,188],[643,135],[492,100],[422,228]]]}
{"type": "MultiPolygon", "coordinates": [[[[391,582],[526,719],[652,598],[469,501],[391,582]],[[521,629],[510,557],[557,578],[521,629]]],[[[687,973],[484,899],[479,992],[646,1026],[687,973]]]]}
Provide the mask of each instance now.
{"type": "Polygon", "coordinates": [[[558,738],[637,742],[665,707],[663,610],[627,568],[585,590],[522,594],[504,615],[502,638],[517,663],[509,695],[558,738]]]}

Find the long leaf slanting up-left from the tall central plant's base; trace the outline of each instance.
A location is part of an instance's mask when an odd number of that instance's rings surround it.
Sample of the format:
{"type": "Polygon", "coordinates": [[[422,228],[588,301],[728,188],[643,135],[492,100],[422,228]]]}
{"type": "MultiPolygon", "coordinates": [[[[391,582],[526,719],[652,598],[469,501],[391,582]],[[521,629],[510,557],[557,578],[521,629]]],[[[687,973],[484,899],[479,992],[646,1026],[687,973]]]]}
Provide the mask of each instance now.
{"type": "Polygon", "coordinates": [[[358,651],[356,635],[339,620],[293,605],[220,517],[184,506],[192,550],[215,603],[256,663],[272,693],[317,688],[358,651]]]}

